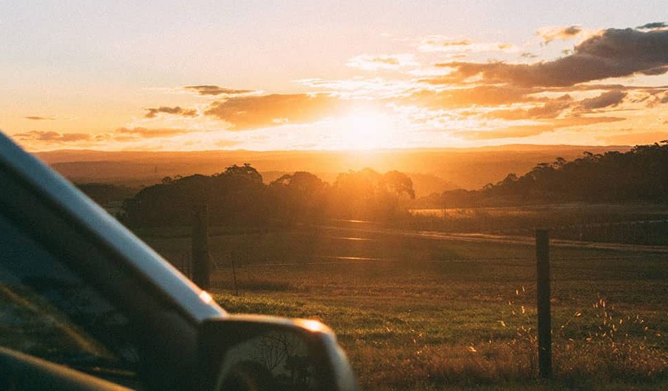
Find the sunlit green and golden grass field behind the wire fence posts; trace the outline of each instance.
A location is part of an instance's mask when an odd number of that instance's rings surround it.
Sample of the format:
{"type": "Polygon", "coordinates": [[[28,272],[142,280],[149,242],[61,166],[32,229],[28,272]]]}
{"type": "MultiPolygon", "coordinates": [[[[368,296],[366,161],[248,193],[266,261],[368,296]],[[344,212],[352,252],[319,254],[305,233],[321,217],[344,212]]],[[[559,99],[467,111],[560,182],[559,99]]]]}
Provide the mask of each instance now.
{"type": "MultiPolygon", "coordinates": [[[[326,322],[367,390],[668,387],[668,255],[551,249],[555,379],[546,383],[536,375],[530,246],[349,228],[212,231],[223,308],[326,322]]],[[[190,251],[184,232],[142,236],[179,264],[190,251]]]]}

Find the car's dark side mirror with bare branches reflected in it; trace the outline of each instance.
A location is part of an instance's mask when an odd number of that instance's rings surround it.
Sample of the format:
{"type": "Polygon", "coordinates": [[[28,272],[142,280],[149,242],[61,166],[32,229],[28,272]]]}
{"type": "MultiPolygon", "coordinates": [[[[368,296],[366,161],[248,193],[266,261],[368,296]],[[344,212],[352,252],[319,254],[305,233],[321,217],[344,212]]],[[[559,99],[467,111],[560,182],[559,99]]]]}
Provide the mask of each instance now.
{"type": "Polygon", "coordinates": [[[319,321],[210,319],[198,337],[208,390],[358,390],[344,351],[319,321]]]}

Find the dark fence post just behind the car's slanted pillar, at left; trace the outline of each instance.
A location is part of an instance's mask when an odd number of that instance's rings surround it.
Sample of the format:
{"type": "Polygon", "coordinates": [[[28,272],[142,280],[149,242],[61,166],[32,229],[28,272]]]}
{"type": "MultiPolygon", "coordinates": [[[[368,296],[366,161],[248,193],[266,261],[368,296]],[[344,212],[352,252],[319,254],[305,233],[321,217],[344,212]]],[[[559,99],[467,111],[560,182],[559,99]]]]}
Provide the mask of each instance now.
{"type": "Polygon", "coordinates": [[[193,282],[209,290],[209,209],[206,204],[193,207],[193,282]]]}

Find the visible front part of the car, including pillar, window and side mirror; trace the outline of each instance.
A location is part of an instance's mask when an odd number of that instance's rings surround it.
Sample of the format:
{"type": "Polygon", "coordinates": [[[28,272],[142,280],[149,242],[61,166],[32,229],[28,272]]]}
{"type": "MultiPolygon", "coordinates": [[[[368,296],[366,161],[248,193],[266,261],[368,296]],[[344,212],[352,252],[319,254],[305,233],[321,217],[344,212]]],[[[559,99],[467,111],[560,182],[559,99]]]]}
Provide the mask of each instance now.
{"type": "Polygon", "coordinates": [[[0,389],[358,389],[330,328],[226,312],[1,132],[0,186],[0,389]]]}

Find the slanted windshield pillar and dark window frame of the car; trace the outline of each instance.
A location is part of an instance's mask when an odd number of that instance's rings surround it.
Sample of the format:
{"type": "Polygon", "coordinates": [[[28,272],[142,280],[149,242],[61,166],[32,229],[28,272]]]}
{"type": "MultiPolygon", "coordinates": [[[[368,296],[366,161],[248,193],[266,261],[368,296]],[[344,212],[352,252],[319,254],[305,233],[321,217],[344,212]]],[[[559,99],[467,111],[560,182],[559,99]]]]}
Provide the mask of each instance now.
{"type": "MultiPolygon", "coordinates": [[[[16,164],[8,164],[3,159],[6,154],[1,152],[7,145],[2,145],[2,137],[0,134],[0,184],[3,187],[0,191],[0,212],[17,228],[56,255],[70,270],[90,282],[113,305],[123,308],[134,324],[141,325],[141,330],[137,331],[139,339],[143,341],[142,346],[139,346],[142,358],[140,372],[148,388],[193,388],[201,381],[196,346],[200,318],[206,319],[207,315],[220,317],[226,313],[217,305],[205,305],[202,310],[201,305],[205,303],[200,303],[200,308],[196,308],[199,312],[195,312],[175,298],[175,292],[166,291],[160,285],[161,280],[156,281],[155,276],[148,276],[145,271],[148,264],[157,269],[157,273],[173,273],[166,261],[161,260],[118,222],[109,221],[113,218],[69,182],[43,167],[45,173],[42,174],[47,174],[47,182],[55,179],[61,190],[65,189],[77,198],[72,200],[74,207],[88,207],[88,212],[102,213],[100,216],[86,216],[88,221],[84,221],[85,218],[78,216],[72,205],[51,197],[52,194],[45,191],[45,184],[22,175],[24,173],[16,169],[16,164]],[[92,205],[88,205],[88,202],[92,205]],[[91,224],[97,226],[91,227],[91,224]],[[128,249],[119,248],[118,242],[115,244],[104,234],[104,228],[116,230],[111,234],[117,236],[125,234],[127,238],[121,239],[128,246],[139,249],[134,253],[140,259],[130,259],[128,249]],[[148,255],[153,253],[154,256],[141,258],[142,251],[148,252],[148,255]]],[[[81,214],[81,211],[78,212],[81,214]]],[[[184,291],[184,282],[179,281],[180,276],[173,275],[170,278],[182,284],[175,289],[184,291]]],[[[185,289],[188,288],[186,285],[185,289]]],[[[198,292],[194,288],[191,290],[193,293],[198,292]]]]}

